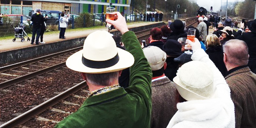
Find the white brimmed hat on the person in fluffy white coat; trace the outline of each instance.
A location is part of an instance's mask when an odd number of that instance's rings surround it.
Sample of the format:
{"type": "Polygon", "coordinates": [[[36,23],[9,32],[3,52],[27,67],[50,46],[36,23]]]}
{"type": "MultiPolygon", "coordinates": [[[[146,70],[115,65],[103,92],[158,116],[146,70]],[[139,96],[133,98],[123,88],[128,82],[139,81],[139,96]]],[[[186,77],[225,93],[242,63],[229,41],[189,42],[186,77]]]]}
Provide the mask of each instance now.
{"type": "Polygon", "coordinates": [[[182,65],[174,77],[175,87],[187,101],[215,96],[213,73],[204,62],[190,61],[182,65]]]}

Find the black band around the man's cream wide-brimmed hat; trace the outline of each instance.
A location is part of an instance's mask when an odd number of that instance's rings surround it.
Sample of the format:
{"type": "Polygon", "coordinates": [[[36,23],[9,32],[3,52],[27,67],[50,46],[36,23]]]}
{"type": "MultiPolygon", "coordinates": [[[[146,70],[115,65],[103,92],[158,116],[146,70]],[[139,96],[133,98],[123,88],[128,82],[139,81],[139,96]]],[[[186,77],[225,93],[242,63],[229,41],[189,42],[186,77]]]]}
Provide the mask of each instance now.
{"type": "Polygon", "coordinates": [[[115,55],[114,58],[105,60],[105,61],[93,61],[93,60],[88,60],[82,55],[82,63],[89,67],[89,68],[108,68],[111,66],[114,66],[117,62],[119,61],[119,55],[118,53],[115,55]]]}

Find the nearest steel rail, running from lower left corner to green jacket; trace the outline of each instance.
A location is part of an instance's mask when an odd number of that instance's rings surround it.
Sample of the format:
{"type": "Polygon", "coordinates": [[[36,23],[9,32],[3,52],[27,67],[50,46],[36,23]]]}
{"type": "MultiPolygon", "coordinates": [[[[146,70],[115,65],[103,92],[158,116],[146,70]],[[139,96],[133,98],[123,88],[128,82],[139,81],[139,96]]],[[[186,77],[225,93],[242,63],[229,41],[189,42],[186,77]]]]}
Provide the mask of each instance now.
{"type": "MultiPolygon", "coordinates": [[[[63,93],[60,93],[57,96],[54,96],[53,98],[47,100],[44,103],[39,104],[38,106],[34,107],[33,109],[30,109],[29,111],[26,111],[22,115],[19,115],[8,122],[0,125],[0,128],[7,128],[7,127],[16,127],[18,125],[21,125],[28,120],[30,120],[32,117],[39,115],[41,112],[44,112],[47,108],[50,108],[51,106],[57,104],[59,101],[67,98],[71,94],[77,93],[78,90],[86,87],[86,81],[83,81],[72,88],[64,91],[63,93]]],[[[87,92],[89,93],[89,91],[87,92]]]]}

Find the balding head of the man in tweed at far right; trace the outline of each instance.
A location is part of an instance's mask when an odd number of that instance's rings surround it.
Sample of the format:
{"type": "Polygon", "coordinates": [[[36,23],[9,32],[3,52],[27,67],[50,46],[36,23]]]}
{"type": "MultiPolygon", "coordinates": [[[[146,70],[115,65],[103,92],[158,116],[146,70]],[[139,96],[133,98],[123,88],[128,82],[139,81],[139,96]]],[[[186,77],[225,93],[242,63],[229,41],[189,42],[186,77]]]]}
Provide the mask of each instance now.
{"type": "Polygon", "coordinates": [[[227,62],[234,66],[243,66],[248,63],[248,46],[243,40],[229,40],[223,45],[223,52],[227,62]]]}

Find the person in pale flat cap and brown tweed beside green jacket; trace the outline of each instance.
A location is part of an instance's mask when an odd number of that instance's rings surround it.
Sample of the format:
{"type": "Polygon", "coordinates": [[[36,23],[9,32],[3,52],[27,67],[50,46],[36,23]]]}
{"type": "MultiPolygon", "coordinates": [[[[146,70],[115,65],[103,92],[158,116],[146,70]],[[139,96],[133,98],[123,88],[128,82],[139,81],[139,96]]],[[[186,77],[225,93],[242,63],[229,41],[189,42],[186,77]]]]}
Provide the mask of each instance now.
{"type": "Polygon", "coordinates": [[[167,54],[156,46],[143,48],[143,53],[153,72],[151,128],[166,128],[177,111],[175,83],[164,75],[167,54]]]}

